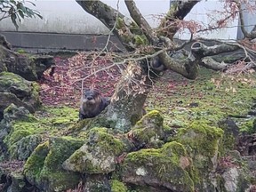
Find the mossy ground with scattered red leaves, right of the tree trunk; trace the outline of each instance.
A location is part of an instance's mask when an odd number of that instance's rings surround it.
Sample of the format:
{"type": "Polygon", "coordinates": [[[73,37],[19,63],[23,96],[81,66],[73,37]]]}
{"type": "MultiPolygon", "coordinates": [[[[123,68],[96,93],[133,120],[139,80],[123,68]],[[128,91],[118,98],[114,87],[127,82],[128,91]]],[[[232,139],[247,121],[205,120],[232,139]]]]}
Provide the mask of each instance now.
{"type": "Polygon", "coordinates": [[[167,71],[149,93],[146,109],[161,111],[164,124],[171,127],[199,119],[216,125],[227,116],[246,116],[255,99],[255,86],[255,74],[228,76],[200,68],[197,79],[188,80],[167,71]]]}

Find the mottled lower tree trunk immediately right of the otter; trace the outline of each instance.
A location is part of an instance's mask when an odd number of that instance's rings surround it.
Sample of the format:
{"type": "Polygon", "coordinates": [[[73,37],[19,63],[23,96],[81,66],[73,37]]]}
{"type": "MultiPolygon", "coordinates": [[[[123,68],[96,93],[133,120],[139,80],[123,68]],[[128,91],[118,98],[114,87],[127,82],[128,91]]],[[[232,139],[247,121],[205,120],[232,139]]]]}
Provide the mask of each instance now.
{"type": "Polygon", "coordinates": [[[108,120],[115,122],[113,128],[128,132],[143,115],[143,106],[151,85],[145,72],[138,67],[138,63],[130,63],[116,85],[107,111],[108,120]]]}

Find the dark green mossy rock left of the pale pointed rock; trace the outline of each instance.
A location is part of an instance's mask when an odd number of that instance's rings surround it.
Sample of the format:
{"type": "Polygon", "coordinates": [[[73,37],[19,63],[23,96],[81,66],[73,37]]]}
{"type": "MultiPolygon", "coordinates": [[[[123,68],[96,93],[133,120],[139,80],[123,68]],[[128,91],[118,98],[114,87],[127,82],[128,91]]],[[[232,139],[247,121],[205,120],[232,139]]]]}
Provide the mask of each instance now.
{"type": "Polygon", "coordinates": [[[82,145],[82,140],[69,137],[50,138],[28,157],[24,167],[27,180],[46,191],[74,188],[79,174],[65,171],[62,163],[82,145]]]}

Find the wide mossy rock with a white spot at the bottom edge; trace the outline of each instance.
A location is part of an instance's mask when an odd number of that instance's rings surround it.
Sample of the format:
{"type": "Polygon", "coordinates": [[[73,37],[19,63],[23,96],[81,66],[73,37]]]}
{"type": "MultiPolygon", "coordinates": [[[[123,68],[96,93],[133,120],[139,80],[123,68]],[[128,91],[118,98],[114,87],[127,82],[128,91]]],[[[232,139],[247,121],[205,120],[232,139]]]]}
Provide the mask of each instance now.
{"type": "Polygon", "coordinates": [[[180,158],[176,159],[182,152],[170,157],[166,148],[129,153],[121,165],[122,180],[132,185],[162,188],[163,191],[195,191],[193,180],[180,166],[180,158]]]}

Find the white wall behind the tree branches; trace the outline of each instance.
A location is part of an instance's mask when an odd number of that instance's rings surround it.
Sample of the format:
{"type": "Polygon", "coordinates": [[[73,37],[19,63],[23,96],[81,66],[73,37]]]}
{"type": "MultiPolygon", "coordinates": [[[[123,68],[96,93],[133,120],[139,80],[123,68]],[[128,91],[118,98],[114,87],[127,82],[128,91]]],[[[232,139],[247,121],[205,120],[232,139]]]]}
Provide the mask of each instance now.
{"type": "MultiPolygon", "coordinates": [[[[220,0],[221,1],[221,0],[220,0]]],[[[204,0],[193,8],[186,20],[197,20],[203,22],[204,25],[212,22],[212,18],[207,17],[212,12],[212,17],[219,17],[213,10],[221,10],[222,4],[219,0],[204,0]]],[[[76,3],[75,0],[32,0],[36,4],[36,10],[41,12],[43,20],[38,18],[23,20],[20,24],[19,31],[26,32],[50,32],[65,34],[107,34],[106,28],[101,22],[92,17],[76,3]]],[[[103,0],[106,4],[116,8],[117,0],[103,0]]],[[[149,24],[153,27],[157,26],[159,20],[153,15],[166,13],[170,7],[170,0],[135,0],[140,12],[146,17],[149,24]]],[[[119,3],[120,12],[129,15],[124,4],[124,0],[119,3]]],[[[229,24],[237,26],[238,20],[229,24]]],[[[15,31],[10,20],[0,22],[0,30],[15,31]]],[[[182,39],[188,39],[189,35],[186,31],[178,34],[182,39]]],[[[224,28],[218,31],[201,34],[202,37],[218,38],[218,39],[236,39],[237,28],[224,28]]]]}

